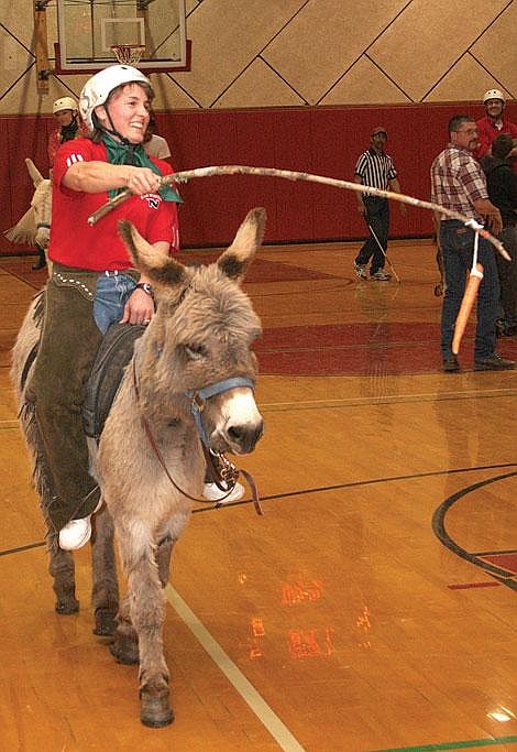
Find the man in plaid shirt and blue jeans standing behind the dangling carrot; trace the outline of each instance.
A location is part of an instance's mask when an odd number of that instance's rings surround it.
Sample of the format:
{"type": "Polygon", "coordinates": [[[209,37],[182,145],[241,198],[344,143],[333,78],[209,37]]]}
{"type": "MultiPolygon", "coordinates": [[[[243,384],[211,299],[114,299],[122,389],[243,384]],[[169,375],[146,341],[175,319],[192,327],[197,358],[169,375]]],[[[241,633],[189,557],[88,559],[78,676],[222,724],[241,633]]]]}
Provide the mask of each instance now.
{"type": "MultiPolygon", "coordinates": [[[[477,146],[474,118],[457,115],[449,122],[450,142],[431,165],[431,200],[447,209],[459,211],[488,227],[498,235],[503,222],[499,210],[488,200],[486,181],[472,152],[477,146]]],[[[443,370],[460,370],[452,353],[454,324],[472,266],[474,230],[457,219],[436,212],[447,290],[441,315],[441,353],[443,370]]],[[[492,244],[480,237],[477,261],[483,266],[483,280],[477,296],[477,324],[474,342],[474,368],[477,371],[514,369],[517,363],[495,351],[499,280],[492,244]]]]}

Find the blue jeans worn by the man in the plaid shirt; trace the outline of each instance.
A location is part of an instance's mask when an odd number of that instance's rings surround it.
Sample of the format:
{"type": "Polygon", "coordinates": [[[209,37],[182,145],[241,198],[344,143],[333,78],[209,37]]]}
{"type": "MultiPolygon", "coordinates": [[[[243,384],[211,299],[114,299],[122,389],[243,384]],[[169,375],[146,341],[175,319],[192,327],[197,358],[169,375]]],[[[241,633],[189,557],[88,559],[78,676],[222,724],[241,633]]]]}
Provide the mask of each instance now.
{"type": "MultiPolygon", "coordinates": [[[[447,284],[441,310],[441,352],[443,358],[448,358],[452,355],[454,324],[463,298],[466,276],[472,266],[474,230],[455,219],[442,221],[440,243],[447,284]]],[[[494,249],[483,238],[480,238],[477,261],[483,266],[483,280],[477,293],[474,360],[487,358],[495,352],[495,321],[499,302],[499,277],[494,249]]]]}

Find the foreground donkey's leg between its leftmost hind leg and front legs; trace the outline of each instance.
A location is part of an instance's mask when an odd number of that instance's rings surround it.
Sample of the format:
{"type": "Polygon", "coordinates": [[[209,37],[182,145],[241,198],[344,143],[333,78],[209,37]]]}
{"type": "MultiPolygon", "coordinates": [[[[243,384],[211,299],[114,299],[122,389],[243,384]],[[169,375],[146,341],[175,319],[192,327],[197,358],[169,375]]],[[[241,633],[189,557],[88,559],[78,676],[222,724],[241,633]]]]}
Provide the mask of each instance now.
{"type": "Polygon", "coordinates": [[[106,504],[92,517],[91,536],[94,634],[112,635],[119,610],[119,584],[113,548],[113,520],[106,504]]]}

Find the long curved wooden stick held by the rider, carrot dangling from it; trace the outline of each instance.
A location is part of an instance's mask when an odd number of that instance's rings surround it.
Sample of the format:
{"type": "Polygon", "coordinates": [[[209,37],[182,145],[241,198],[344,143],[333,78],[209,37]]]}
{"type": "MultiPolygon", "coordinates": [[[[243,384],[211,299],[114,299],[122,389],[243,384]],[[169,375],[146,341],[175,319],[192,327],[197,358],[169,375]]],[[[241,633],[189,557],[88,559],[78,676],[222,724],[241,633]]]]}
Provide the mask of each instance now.
{"type": "MultiPolygon", "coordinates": [[[[185,170],[174,175],[164,175],[162,177],[162,185],[169,185],[170,183],[187,183],[193,177],[213,177],[216,175],[261,175],[265,177],[284,177],[288,181],[307,181],[309,183],[321,183],[322,185],[330,185],[334,188],[345,188],[346,190],[355,190],[355,193],[365,193],[370,196],[380,196],[381,198],[389,198],[395,201],[400,201],[403,204],[410,204],[411,206],[418,206],[421,209],[431,209],[432,211],[439,211],[446,215],[450,219],[459,219],[463,225],[470,227],[474,232],[480,235],[485,240],[488,240],[494,248],[501,253],[501,255],[510,261],[510,257],[506,252],[503,243],[497,238],[494,238],[487,230],[484,229],[482,225],[476,222],[474,219],[465,217],[459,211],[453,211],[452,209],[446,209],[438,204],[432,201],[424,201],[420,198],[414,198],[414,196],[406,196],[406,194],[394,193],[393,190],[382,190],[381,188],[372,188],[366,185],[360,185],[359,183],[351,183],[350,181],[338,181],[334,177],[323,177],[322,175],[312,175],[311,173],[300,173],[293,172],[290,170],[276,170],[275,167],[250,167],[248,165],[221,165],[211,167],[197,167],[195,170],[185,170]]],[[[95,211],[90,217],[88,217],[89,225],[96,225],[102,217],[105,217],[109,211],[120,206],[127,198],[133,194],[129,188],[124,188],[116,198],[110,199],[107,204],[101,206],[97,211],[95,211]]]]}

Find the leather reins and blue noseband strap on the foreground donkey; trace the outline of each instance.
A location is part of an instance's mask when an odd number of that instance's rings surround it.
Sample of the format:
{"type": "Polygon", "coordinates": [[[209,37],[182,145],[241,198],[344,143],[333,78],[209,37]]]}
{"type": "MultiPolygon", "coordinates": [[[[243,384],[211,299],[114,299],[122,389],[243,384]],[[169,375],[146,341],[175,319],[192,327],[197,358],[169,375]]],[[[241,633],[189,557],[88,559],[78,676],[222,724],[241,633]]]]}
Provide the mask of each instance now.
{"type": "MultiPolygon", "coordinates": [[[[136,377],[136,362],[135,358],[133,357],[133,386],[134,386],[134,393],[136,396],[136,403],[140,403],[140,389],[139,389],[139,380],[136,377]]],[[[255,512],[257,514],[264,514],[262,511],[261,506],[261,501],[258,498],[258,491],[256,489],[256,483],[253,480],[253,477],[246,471],[246,470],[240,470],[237,468],[233,462],[231,462],[228,457],[222,453],[222,451],[217,451],[216,449],[212,449],[210,446],[210,439],[207,435],[207,432],[205,429],[205,426],[202,425],[202,419],[201,419],[201,413],[205,407],[205,404],[207,400],[209,400],[211,396],[216,396],[216,394],[222,394],[223,392],[228,392],[230,389],[234,389],[235,386],[249,386],[250,389],[253,389],[254,383],[251,379],[248,379],[245,377],[233,377],[231,379],[224,379],[222,381],[218,381],[215,384],[210,384],[209,386],[205,386],[204,389],[198,389],[198,390],[191,390],[188,392],[185,392],[185,394],[188,396],[190,400],[190,411],[194,416],[194,422],[196,424],[196,428],[199,434],[199,439],[201,442],[201,448],[205,455],[205,460],[207,462],[207,469],[210,473],[210,477],[212,481],[216,483],[219,490],[223,491],[226,495],[221,497],[219,501],[217,502],[211,502],[208,501],[207,499],[198,499],[197,497],[190,495],[190,493],[187,493],[183,488],[180,488],[176,481],[174,480],[173,476],[170,475],[166,464],[165,459],[160,451],[160,447],[157,445],[156,438],[151,429],[151,426],[148,425],[147,419],[145,418],[144,415],[140,415],[140,419],[142,422],[142,426],[145,431],[145,435],[147,436],[147,440],[151,445],[151,448],[153,449],[156,459],[158,460],[160,465],[162,466],[165,475],[167,476],[168,480],[170,481],[172,486],[176,489],[176,491],[179,491],[179,493],[183,493],[184,497],[187,497],[187,499],[190,499],[190,501],[196,501],[197,503],[200,504],[212,504],[216,506],[220,506],[222,503],[224,503],[224,499],[227,499],[230,493],[233,491],[235,488],[238,478],[240,475],[242,475],[245,480],[248,481],[248,484],[250,486],[250,489],[252,491],[253,495],[253,505],[255,508],[255,512]]]]}

